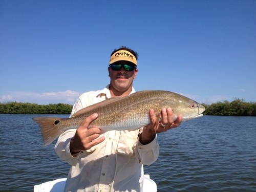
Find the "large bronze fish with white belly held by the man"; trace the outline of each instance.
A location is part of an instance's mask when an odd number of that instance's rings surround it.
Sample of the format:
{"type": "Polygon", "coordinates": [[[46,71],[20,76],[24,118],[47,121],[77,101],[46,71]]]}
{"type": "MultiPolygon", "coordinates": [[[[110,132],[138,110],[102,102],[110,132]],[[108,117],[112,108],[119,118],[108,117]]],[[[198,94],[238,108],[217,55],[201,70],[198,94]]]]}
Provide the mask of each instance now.
{"type": "Polygon", "coordinates": [[[96,126],[103,131],[135,130],[150,123],[150,109],[160,113],[163,108],[168,107],[173,109],[175,115],[181,114],[183,120],[199,117],[204,111],[204,106],[177,93],[141,91],[88,106],[75,113],[72,118],[36,117],[33,120],[39,124],[44,144],[47,145],[66,130],[76,129],[85,118],[94,113],[98,117],[89,128],[96,126]]]}

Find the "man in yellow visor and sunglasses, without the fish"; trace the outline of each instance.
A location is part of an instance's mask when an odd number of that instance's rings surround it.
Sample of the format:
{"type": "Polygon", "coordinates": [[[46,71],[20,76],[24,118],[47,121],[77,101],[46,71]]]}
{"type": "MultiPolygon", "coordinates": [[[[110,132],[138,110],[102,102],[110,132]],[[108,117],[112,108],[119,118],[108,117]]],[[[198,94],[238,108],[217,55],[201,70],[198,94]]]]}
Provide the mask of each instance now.
{"type": "MultiPolygon", "coordinates": [[[[134,93],[137,60],[138,54],[132,49],[114,50],[108,68],[110,84],[103,90],[83,93],[74,104],[71,115],[105,99],[134,93]]],[[[143,164],[152,164],[159,154],[156,134],[179,126],[182,120],[178,116],[174,122],[170,108],[162,109],[160,122],[156,122],[152,109],[149,117],[151,123],[138,130],[102,134],[97,127],[88,129],[97,118],[97,114],[93,114],[77,129],[60,135],[55,151],[72,165],[65,191],[142,191],[143,164]]]]}

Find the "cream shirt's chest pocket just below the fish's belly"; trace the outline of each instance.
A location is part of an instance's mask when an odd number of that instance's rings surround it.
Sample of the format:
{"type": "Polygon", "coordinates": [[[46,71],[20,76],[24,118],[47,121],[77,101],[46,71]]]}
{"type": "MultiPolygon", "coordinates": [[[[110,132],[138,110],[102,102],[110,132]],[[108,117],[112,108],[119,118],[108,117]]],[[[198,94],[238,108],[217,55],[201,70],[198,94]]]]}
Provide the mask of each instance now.
{"type": "Polygon", "coordinates": [[[117,153],[125,156],[135,155],[135,146],[139,138],[139,130],[121,131],[117,145],[117,153]]]}

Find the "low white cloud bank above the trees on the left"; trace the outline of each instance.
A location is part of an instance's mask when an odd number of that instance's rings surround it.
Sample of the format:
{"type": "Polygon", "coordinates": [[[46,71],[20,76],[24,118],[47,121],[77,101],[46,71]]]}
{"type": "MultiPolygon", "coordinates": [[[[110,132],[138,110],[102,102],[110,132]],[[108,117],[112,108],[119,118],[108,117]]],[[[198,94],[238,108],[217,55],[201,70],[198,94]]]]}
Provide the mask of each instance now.
{"type": "Polygon", "coordinates": [[[79,92],[76,91],[63,91],[63,92],[11,92],[6,95],[0,95],[0,102],[30,102],[38,104],[49,104],[49,103],[68,103],[74,104],[79,92]]]}

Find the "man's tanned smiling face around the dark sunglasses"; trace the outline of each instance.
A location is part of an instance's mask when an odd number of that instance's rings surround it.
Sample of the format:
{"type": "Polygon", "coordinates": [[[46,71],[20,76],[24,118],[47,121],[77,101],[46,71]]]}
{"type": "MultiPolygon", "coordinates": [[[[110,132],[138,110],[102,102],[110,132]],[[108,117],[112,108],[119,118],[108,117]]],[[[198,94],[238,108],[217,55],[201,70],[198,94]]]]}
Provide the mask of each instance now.
{"type": "MultiPolygon", "coordinates": [[[[121,63],[123,65],[129,62],[119,61],[118,63],[121,63]]],[[[129,88],[132,88],[133,80],[136,78],[136,75],[138,73],[138,69],[126,71],[124,70],[123,66],[120,70],[117,71],[111,69],[111,67],[109,67],[108,70],[111,86],[119,92],[123,92],[128,90],[129,88]]]]}

